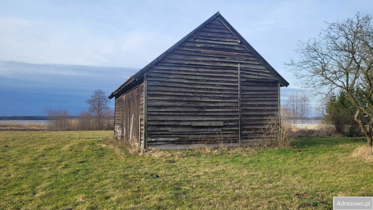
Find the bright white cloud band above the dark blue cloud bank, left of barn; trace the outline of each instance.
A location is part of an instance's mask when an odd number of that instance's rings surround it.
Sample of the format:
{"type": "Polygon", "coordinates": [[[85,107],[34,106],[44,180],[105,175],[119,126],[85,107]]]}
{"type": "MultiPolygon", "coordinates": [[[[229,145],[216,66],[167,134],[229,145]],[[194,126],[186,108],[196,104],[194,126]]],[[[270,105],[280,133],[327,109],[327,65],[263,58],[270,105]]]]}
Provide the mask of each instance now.
{"type": "Polygon", "coordinates": [[[167,49],[160,38],[169,37],[136,29],[109,38],[84,21],[64,26],[0,17],[3,61],[141,68],[167,49]]]}

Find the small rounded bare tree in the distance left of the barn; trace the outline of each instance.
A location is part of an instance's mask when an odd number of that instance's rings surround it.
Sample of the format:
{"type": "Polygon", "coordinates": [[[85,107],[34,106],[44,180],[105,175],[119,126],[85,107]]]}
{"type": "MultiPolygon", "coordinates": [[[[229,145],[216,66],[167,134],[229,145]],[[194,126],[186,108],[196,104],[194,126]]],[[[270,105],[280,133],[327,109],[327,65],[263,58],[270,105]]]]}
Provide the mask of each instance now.
{"type": "Polygon", "coordinates": [[[102,116],[110,111],[108,104],[110,100],[107,98],[105,92],[101,89],[97,89],[93,92],[90,99],[85,101],[87,105],[90,107],[88,108],[88,112],[93,115],[98,122],[98,127],[100,128],[100,121],[102,116]]]}

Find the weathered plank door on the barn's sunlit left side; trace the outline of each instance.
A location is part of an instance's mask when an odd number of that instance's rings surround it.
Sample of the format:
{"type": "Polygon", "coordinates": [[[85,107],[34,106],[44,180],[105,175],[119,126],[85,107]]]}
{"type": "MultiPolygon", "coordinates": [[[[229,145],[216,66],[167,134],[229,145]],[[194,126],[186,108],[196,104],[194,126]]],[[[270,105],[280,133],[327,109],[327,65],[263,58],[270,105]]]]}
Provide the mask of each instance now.
{"type": "Polygon", "coordinates": [[[140,87],[123,95],[123,137],[140,146],[140,87]]]}

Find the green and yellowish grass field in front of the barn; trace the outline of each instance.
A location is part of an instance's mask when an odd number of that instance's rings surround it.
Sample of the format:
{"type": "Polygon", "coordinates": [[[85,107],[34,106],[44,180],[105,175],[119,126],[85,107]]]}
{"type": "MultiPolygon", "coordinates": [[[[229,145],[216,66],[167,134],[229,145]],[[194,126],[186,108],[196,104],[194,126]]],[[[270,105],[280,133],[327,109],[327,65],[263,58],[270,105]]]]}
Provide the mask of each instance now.
{"type": "Polygon", "coordinates": [[[373,196],[363,138],[300,138],[291,149],[140,156],[111,131],[0,132],[0,209],[332,209],[373,196]]]}

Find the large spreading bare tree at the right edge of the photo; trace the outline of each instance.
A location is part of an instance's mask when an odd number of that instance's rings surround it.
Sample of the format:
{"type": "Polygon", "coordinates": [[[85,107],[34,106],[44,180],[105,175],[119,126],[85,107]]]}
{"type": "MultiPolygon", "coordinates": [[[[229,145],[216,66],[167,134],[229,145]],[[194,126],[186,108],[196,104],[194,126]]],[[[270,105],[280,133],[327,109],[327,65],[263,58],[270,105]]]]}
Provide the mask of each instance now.
{"type": "Polygon", "coordinates": [[[354,18],[332,23],[318,37],[298,44],[299,60],[285,63],[298,85],[313,95],[327,94],[336,88],[346,91],[356,107],[354,119],[372,146],[373,115],[373,24],[372,15],[357,13],[354,18]],[[360,94],[364,100],[359,100],[360,94]],[[366,125],[362,119],[369,117],[366,125]]]}

